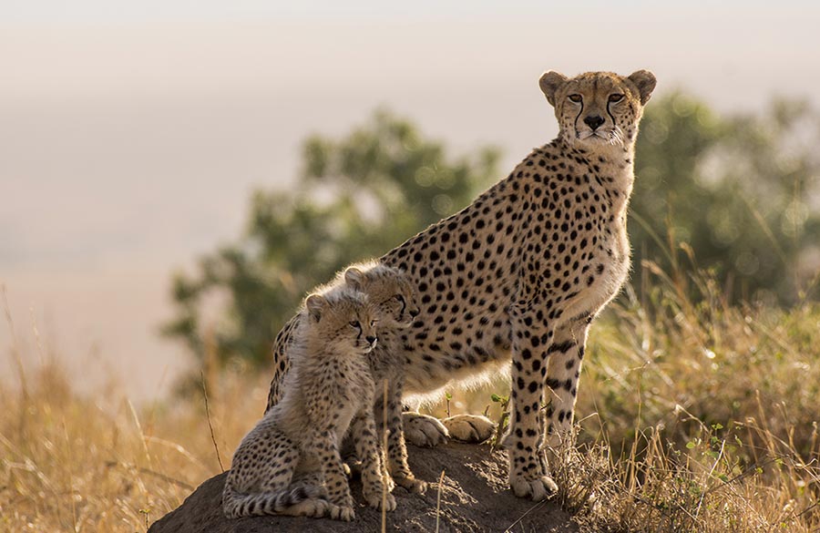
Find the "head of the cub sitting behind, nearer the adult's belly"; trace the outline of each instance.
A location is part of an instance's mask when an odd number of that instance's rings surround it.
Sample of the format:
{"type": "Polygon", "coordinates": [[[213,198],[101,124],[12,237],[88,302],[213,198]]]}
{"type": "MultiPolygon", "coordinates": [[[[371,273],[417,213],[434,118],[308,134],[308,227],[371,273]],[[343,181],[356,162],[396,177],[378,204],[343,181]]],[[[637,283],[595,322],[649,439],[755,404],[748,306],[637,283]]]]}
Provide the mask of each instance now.
{"type": "Polygon", "coordinates": [[[406,327],[418,315],[413,284],[404,272],[381,263],[365,263],[344,271],[345,284],[364,292],[386,327],[406,327]]]}

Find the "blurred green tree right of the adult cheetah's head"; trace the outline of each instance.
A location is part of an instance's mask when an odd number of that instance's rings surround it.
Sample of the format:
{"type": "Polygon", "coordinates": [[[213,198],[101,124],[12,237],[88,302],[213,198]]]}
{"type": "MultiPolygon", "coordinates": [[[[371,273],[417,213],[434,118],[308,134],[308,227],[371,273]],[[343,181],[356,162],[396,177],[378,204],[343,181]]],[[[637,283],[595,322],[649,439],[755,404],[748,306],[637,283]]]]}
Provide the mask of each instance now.
{"type": "Polygon", "coordinates": [[[820,116],[800,102],[719,118],[680,93],[653,100],[636,148],[636,269],[645,258],[685,274],[685,243],[730,296],[794,302],[818,262],[818,136],[820,116]]]}

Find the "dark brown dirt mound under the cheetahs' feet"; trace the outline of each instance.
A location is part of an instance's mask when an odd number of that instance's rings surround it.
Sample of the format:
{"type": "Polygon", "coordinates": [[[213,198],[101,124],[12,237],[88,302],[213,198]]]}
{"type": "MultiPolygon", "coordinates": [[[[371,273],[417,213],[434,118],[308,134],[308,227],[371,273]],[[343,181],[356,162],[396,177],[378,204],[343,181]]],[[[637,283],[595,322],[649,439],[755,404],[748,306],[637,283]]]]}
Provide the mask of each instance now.
{"type": "MultiPolygon", "coordinates": [[[[416,477],[431,483],[425,495],[409,494],[396,487],[398,507],[387,513],[388,531],[426,533],[436,530],[435,482],[445,470],[441,490],[439,531],[442,533],[515,531],[517,533],[576,533],[569,514],[551,502],[534,504],[507,489],[507,455],[490,453],[489,446],[448,444],[433,449],[411,447],[410,466],[416,477]]],[[[365,507],[362,487],[351,483],[356,498],[356,518],[340,522],[327,518],[259,517],[229,520],[222,516],[220,499],[225,474],[200,485],[176,510],[155,522],[149,533],[361,533],[380,531],[381,513],[365,507]]]]}

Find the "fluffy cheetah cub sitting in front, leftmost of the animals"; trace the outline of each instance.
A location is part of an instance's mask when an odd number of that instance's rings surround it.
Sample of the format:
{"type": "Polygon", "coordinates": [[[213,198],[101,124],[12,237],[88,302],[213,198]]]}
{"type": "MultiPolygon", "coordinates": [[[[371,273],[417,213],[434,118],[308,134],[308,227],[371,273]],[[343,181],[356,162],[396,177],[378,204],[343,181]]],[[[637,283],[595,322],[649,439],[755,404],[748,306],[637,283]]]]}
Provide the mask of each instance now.
{"type": "MultiPolygon", "coordinates": [[[[383,470],[373,416],[359,413],[372,413],[374,402],[366,357],[377,343],[373,306],[361,292],[337,290],[308,296],[299,316],[282,401],[233,456],[222,492],[228,518],[282,514],[352,520],[354,502],[339,443],[354,417],[364,418],[363,432],[371,436],[355,443],[365,470],[383,470]]],[[[381,492],[380,478],[369,482],[381,492]]]]}

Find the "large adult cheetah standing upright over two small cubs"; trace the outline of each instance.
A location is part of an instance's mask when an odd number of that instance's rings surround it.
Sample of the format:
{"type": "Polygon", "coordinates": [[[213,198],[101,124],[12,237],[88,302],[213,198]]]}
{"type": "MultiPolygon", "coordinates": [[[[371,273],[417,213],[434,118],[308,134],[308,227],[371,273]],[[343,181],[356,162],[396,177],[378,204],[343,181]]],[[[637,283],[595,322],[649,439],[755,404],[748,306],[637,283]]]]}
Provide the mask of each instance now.
{"type": "MultiPolygon", "coordinates": [[[[557,489],[545,450],[569,432],[589,324],[630,269],[635,139],[655,77],[549,71],[539,86],[558,137],[464,210],[380,258],[415,283],[421,310],[402,335],[405,395],[494,372],[511,354],[509,485],[534,500],[557,489]]],[[[278,384],[287,360],[274,368],[278,384]]],[[[405,430],[420,425],[428,434],[440,428],[429,417],[405,418],[405,430]]]]}

